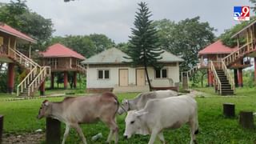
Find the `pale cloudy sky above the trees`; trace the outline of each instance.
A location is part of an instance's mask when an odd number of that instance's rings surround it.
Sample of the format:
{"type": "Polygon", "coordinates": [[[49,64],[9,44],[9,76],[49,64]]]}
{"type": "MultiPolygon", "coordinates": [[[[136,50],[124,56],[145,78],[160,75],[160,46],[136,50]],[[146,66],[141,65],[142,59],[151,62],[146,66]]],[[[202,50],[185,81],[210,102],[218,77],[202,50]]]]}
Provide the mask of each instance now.
{"type": "MultiPolygon", "coordinates": [[[[9,0],[0,0],[10,2],[9,0]]],[[[32,11],[54,23],[54,35],[106,34],[114,42],[127,42],[139,0],[27,0],[32,11]]],[[[233,6],[250,6],[249,0],[146,0],[153,20],[168,18],[178,22],[200,16],[218,31],[236,23],[233,6]]],[[[250,13],[252,15],[252,12],[250,13]]]]}

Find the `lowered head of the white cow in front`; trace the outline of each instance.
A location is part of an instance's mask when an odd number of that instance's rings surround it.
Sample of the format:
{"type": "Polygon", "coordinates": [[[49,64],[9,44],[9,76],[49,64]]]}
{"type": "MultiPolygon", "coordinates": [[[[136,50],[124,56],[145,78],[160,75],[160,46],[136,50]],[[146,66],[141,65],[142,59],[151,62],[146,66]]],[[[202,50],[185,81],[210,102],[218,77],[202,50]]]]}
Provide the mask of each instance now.
{"type": "Polygon", "coordinates": [[[126,130],[123,136],[130,138],[133,134],[148,134],[148,130],[143,124],[142,116],[147,112],[139,113],[138,111],[131,110],[126,116],[126,130]]]}

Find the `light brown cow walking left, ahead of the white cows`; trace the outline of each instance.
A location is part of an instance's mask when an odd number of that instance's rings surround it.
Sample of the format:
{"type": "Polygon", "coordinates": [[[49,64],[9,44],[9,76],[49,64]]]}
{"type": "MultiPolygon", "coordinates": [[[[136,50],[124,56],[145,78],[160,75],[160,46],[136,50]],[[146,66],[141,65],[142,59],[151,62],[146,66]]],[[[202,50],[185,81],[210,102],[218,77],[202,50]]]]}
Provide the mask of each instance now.
{"type": "Polygon", "coordinates": [[[98,122],[99,119],[110,128],[107,142],[110,142],[114,133],[114,143],[118,143],[118,125],[115,122],[117,110],[117,97],[112,93],[103,93],[86,97],[65,98],[62,102],[46,100],[42,102],[38,118],[56,118],[66,124],[62,144],[66,141],[70,127],[77,130],[82,142],[86,144],[86,138],[79,124],[98,122]]]}

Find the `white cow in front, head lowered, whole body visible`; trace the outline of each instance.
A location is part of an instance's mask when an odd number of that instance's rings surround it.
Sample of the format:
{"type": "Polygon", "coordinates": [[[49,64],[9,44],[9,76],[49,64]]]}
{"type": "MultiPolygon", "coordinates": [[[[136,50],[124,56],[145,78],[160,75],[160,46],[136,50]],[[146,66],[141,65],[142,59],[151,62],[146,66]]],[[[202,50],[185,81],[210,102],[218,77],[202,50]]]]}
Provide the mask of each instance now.
{"type": "Polygon", "coordinates": [[[151,134],[149,144],[153,144],[156,136],[165,143],[163,129],[177,129],[183,124],[190,126],[190,144],[196,143],[198,133],[197,102],[189,95],[178,97],[151,99],[142,110],[129,111],[126,116],[125,138],[132,134],[151,134]]]}

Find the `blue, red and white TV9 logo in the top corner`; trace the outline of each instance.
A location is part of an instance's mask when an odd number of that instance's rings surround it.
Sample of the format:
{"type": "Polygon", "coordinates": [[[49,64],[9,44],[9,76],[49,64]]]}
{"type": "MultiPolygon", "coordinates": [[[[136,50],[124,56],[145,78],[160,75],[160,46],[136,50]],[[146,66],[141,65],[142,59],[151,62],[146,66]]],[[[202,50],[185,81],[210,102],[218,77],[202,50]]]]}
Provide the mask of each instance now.
{"type": "Polygon", "coordinates": [[[250,7],[249,6],[234,6],[234,20],[249,21],[250,7]]]}

